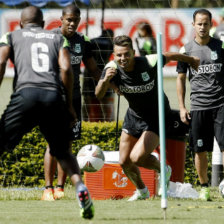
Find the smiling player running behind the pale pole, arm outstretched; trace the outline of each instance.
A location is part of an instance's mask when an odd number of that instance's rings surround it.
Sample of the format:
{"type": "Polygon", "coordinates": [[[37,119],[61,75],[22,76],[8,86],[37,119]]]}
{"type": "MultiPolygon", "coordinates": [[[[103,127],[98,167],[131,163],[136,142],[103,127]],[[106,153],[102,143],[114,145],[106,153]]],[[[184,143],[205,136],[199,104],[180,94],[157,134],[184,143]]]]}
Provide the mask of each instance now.
{"type": "MultiPolygon", "coordinates": [[[[102,98],[112,84],[119,88],[129,103],[119,146],[120,165],[136,186],[136,191],[129,201],[149,198],[149,191],[141,179],[138,166],[160,172],[160,162],[151,154],[159,144],[157,55],[134,55],[130,37],[115,37],[114,61],[105,66],[95,91],[96,96],[102,98]]],[[[180,53],[164,53],[164,65],[171,60],[185,61],[195,69],[199,63],[194,57],[180,53]]],[[[166,95],[164,104],[168,117],[171,109],[166,95]]],[[[171,168],[167,166],[167,184],[170,176],[171,168]]]]}

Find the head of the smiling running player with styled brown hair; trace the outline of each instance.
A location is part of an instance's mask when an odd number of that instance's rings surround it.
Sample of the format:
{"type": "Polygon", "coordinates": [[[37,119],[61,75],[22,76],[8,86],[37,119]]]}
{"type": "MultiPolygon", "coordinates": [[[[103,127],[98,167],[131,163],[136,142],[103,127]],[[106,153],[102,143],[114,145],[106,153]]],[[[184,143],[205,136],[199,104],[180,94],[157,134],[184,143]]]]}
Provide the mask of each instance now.
{"type": "Polygon", "coordinates": [[[125,70],[133,69],[135,51],[129,36],[122,35],[114,38],[114,60],[125,70]]]}

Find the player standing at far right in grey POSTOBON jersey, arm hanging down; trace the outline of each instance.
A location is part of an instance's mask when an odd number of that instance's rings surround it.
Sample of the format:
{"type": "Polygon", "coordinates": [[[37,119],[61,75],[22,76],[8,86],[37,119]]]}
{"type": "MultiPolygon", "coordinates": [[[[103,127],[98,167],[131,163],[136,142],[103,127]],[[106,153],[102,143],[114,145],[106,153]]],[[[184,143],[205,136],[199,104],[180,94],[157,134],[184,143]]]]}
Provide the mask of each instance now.
{"type": "MultiPolygon", "coordinates": [[[[193,14],[195,38],[180,52],[200,58],[198,71],[178,62],[177,95],[181,120],[190,124],[189,144],[195,152],[195,167],[201,184],[200,198],[210,199],[207,152],[213,150],[214,136],[224,150],[224,44],[209,36],[212,15],[207,9],[193,14]],[[191,86],[190,113],[185,107],[186,73],[191,86]]],[[[224,160],[223,160],[224,161],[224,160]]]]}

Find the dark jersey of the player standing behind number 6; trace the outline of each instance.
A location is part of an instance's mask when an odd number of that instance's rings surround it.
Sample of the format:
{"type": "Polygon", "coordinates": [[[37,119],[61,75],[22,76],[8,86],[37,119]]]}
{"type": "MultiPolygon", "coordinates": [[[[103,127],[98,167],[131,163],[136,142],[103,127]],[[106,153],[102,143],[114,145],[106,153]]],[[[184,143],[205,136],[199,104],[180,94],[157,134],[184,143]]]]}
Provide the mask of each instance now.
{"type": "MultiPolygon", "coordinates": [[[[62,34],[61,28],[53,29],[52,31],[62,34]]],[[[86,59],[92,57],[91,43],[87,36],[79,32],[75,32],[75,34],[72,37],[67,38],[67,40],[70,45],[68,50],[71,55],[71,65],[74,74],[73,95],[79,97],[81,96],[79,80],[79,75],[81,74],[80,66],[82,61],[85,62],[86,59]]]]}

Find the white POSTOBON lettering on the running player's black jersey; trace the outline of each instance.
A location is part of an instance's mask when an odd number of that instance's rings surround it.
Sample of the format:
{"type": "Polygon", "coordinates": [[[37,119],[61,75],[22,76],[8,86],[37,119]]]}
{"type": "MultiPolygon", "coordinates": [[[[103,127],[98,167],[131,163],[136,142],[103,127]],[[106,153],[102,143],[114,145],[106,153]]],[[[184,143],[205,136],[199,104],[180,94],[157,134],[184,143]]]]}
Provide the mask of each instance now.
{"type": "Polygon", "coordinates": [[[141,85],[141,86],[119,86],[119,89],[122,93],[146,93],[149,92],[153,89],[155,85],[155,81],[153,80],[152,82],[146,84],[146,85],[141,85]]]}

